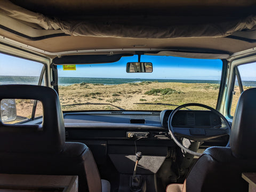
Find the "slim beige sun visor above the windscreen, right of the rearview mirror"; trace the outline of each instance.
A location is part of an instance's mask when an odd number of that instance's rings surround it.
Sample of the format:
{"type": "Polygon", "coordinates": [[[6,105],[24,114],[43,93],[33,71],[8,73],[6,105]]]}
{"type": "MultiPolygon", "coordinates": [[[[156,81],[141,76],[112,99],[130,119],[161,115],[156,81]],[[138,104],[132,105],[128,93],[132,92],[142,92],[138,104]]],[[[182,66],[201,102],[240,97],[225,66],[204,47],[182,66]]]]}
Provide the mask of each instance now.
{"type": "Polygon", "coordinates": [[[146,55],[173,56],[173,57],[183,57],[183,58],[191,58],[191,59],[227,59],[230,57],[229,54],[189,53],[189,52],[178,52],[178,51],[160,51],[156,54],[146,54],[146,55]]]}

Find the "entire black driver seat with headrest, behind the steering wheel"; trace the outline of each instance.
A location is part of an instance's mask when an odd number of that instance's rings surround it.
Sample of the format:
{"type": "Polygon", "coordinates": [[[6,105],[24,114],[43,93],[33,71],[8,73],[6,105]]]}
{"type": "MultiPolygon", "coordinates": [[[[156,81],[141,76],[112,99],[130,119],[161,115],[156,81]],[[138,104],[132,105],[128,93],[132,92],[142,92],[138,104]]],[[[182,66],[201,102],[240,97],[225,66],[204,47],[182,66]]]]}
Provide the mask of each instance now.
{"type": "Polygon", "coordinates": [[[230,147],[210,147],[198,158],[183,184],[166,192],[248,191],[243,172],[256,172],[256,88],[244,91],[237,103],[230,147]]]}

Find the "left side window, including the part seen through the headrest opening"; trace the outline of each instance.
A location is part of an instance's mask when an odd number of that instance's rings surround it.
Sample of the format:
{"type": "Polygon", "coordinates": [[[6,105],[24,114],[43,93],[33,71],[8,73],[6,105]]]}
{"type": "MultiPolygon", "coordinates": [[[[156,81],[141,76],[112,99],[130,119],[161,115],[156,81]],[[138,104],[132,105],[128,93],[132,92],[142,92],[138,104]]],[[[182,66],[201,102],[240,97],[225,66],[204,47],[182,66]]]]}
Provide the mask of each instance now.
{"type": "MultiPolygon", "coordinates": [[[[44,85],[45,67],[42,63],[0,53],[0,85],[44,85]]],[[[19,123],[43,115],[42,103],[26,99],[3,99],[3,123],[19,123]]]]}

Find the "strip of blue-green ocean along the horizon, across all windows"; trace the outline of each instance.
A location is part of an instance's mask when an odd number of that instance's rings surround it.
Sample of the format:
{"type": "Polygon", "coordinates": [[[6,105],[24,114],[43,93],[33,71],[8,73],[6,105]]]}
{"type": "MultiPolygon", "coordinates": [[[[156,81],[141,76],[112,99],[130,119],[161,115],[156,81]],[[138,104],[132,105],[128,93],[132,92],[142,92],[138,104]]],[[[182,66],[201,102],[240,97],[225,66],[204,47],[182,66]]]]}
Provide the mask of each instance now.
{"type": "MultiPolygon", "coordinates": [[[[39,77],[28,76],[0,76],[0,84],[32,84],[37,85],[39,77]]],[[[58,84],[68,86],[79,83],[100,83],[105,85],[116,85],[123,83],[138,83],[143,81],[150,82],[179,82],[179,83],[214,83],[219,84],[220,81],[215,80],[187,80],[187,79],[140,79],[140,78],[85,78],[85,77],[59,77],[58,84]]],[[[237,82],[236,82],[236,85],[237,82]]],[[[243,81],[244,86],[256,87],[255,81],[243,81]]]]}

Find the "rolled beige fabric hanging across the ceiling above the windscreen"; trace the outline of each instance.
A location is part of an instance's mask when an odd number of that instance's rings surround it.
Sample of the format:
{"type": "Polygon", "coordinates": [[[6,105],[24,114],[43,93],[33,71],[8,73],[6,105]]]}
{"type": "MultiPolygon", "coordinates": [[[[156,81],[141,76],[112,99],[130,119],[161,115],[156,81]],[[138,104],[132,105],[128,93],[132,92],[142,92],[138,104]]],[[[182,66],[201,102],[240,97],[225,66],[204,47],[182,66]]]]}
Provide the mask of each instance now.
{"type": "Polygon", "coordinates": [[[0,12],[13,19],[23,23],[33,23],[38,29],[61,29],[63,33],[73,36],[124,38],[225,37],[235,31],[251,30],[256,26],[255,15],[243,19],[217,19],[212,17],[211,20],[202,17],[173,18],[149,15],[147,18],[136,18],[136,16],[125,18],[100,17],[98,20],[79,21],[49,18],[41,13],[23,9],[7,0],[1,1],[0,4],[0,12]],[[179,22],[177,22],[177,19],[179,22]],[[204,19],[204,22],[198,19],[204,19]]]}

